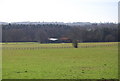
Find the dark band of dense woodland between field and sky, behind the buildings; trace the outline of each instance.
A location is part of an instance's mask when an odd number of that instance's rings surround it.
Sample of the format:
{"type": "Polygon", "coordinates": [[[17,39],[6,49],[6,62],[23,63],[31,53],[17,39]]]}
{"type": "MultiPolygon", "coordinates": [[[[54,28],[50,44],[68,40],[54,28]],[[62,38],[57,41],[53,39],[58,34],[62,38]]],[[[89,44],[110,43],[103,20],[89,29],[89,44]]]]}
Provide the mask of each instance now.
{"type": "Polygon", "coordinates": [[[48,38],[67,37],[78,42],[117,42],[119,24],[97,23],[70,26],[64,24],[6,24],[2,25],[2,42],[48,43],[48,38]]]}

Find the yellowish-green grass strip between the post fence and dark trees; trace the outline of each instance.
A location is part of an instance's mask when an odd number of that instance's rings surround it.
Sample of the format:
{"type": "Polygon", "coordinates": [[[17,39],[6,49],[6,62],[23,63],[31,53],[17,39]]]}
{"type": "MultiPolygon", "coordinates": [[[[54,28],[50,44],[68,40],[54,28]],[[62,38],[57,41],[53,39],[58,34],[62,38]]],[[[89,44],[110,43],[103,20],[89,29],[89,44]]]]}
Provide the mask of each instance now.
{"type": "MultiPolygon", "coordinates": [[[[79,46],[104,46],[104,45],[115,45],[118,44],[117,42],[100,42],[100,43],[79,43],[79,46]]],[[[35,42],[18,42],[18,43],[2,43],[2,47],[9,47],[9,48],[30,48],[30,47],[72,47],[71,43],[61,43],[61,44],[39,44],[35,42]]]]}

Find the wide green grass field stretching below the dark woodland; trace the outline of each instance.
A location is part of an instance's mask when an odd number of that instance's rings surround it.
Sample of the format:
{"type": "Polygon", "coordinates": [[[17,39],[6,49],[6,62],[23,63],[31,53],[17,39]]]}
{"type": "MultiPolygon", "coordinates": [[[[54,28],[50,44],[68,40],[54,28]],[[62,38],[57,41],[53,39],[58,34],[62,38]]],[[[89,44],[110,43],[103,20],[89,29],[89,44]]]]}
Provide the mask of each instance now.
{"type": "Polygon", "coordinates": [[[81,43],[79,48],[8,49],[65,47],[71,44],[3,44],[3,79],[117,79],[117,43],[81,43]],[[113,44],[113,45],[112,45],[113,44]],[[96,45],[95,47],[92,47],[96,45]],[[110,45],[110,46],[109,46],[110,45]],[[88,46],[88,47],[85,47],[88,46]],[[7,49],[6,49],[7,47],[7,49]]]}

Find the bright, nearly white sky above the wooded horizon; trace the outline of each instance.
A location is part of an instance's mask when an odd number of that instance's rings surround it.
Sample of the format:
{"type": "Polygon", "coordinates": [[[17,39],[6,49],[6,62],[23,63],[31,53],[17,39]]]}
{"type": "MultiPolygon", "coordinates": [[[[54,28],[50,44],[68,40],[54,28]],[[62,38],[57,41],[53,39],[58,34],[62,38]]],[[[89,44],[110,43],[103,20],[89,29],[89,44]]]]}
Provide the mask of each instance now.
{"type": "Polygon", "coordinates": [[[119,0],[0,0],[0,22],[118,22],[119,0]]]}

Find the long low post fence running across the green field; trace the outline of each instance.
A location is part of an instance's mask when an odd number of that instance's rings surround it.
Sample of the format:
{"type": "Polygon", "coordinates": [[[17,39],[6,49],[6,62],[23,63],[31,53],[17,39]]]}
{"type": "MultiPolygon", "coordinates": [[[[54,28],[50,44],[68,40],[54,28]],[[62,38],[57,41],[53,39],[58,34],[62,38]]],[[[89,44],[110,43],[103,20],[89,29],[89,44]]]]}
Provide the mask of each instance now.
{"type": "MultiPolygon", "coordinates": [[[[95,44],[95,45],[79,45],[78,48],[94,48],[94,47],[111,47],[118,44],[95,44]]],[[[34,49],[48,49],[48,48],[73,48],[72,46],[52,46],[52,47],[2,47],[2,49],[14,50],[34,50],[34,49]]]]}

